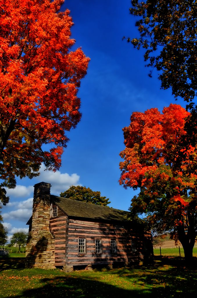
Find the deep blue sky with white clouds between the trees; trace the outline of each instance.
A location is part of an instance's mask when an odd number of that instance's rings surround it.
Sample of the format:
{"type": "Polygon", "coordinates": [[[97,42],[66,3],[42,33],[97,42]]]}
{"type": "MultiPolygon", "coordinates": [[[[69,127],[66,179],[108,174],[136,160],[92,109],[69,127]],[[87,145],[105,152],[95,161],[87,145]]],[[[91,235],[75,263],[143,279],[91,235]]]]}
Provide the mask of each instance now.
{"type": "Polygon", "coordinates": [[[119,185],[119,153],[124,149],[122,128],[130,124],[134,111],[157,107],[162,111],[175,101],[171,90],[161,90],[158,74],[148,77],[143,51],[133,49],[123,36],[136,37],[136,19],[129,14],[130,1],[65,0],[73,18],[73,50],[82,47],[90,57],[86,77],[78,96],[82,119],[68,132],[68,146],[62,156],[62,167],[56,173],[44,171],[40,176],[18,179],[15,190],[8,190],[10,203],[1,209],[4,225],[12,235],[27,229],[32,214],[33,185],[51,183],[51,194],[59,195],[70,185],[83,185],[110,198],[111,207],[128,210],[135,192],[119,185]]]}

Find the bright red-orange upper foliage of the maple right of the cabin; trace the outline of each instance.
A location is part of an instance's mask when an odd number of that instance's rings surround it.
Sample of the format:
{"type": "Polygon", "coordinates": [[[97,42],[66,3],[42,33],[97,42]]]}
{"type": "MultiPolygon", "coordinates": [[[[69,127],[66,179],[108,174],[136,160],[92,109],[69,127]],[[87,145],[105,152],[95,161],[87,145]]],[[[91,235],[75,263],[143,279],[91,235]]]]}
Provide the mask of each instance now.
{"type": "MultiPolygon", "coordinates": [[[[186,160],[182,160],[180,168],[176,168],[179,151],[184,151],[187,159],[195,150],[192,146],[180,148],[181,139],[186,134],[185,118],[189,115],[180,105],[173,104],[164,108],[163,114],[157,108],[145,113],[134,112],[130,126],[123,128],[126,148],[120,153],[124,159],[120,163],[120,184],[134,188],[151,186],[154,179],[171,179],[174,170],[177,181],[182,179],[186,160]]],[[[186,182],[181,183],[185,185],[186,182]]]]}

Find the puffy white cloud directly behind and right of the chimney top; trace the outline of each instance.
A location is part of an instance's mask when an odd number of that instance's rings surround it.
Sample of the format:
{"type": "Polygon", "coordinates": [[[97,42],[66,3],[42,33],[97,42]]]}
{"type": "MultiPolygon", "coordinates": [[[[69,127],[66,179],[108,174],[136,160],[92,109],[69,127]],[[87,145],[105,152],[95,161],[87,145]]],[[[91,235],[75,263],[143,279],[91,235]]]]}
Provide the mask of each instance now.
{"type": "Polygon", "coordinates": [[[77,174],[61,173],[60,171],[45,171],[45,167],[42,164],[40,167],[40,176],[36,179],[39,181],[51,183],[51,194],[60,195],[62,191],[67,190],[71,185],[79,184],[80,176],[77,174]]]}

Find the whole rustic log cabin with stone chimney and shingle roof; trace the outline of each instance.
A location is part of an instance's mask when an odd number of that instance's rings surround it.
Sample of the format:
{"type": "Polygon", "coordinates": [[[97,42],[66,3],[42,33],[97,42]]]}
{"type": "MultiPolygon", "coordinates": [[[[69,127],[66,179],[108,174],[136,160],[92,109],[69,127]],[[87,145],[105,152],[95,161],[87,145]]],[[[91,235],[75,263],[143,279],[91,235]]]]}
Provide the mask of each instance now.
{"type": "Polygon", "coordinates": [[[34,186],[27,224],[26,268],[122,266],[153,255],[150,232],[129,212],[50,194],[51,184],[34,186]]]}

